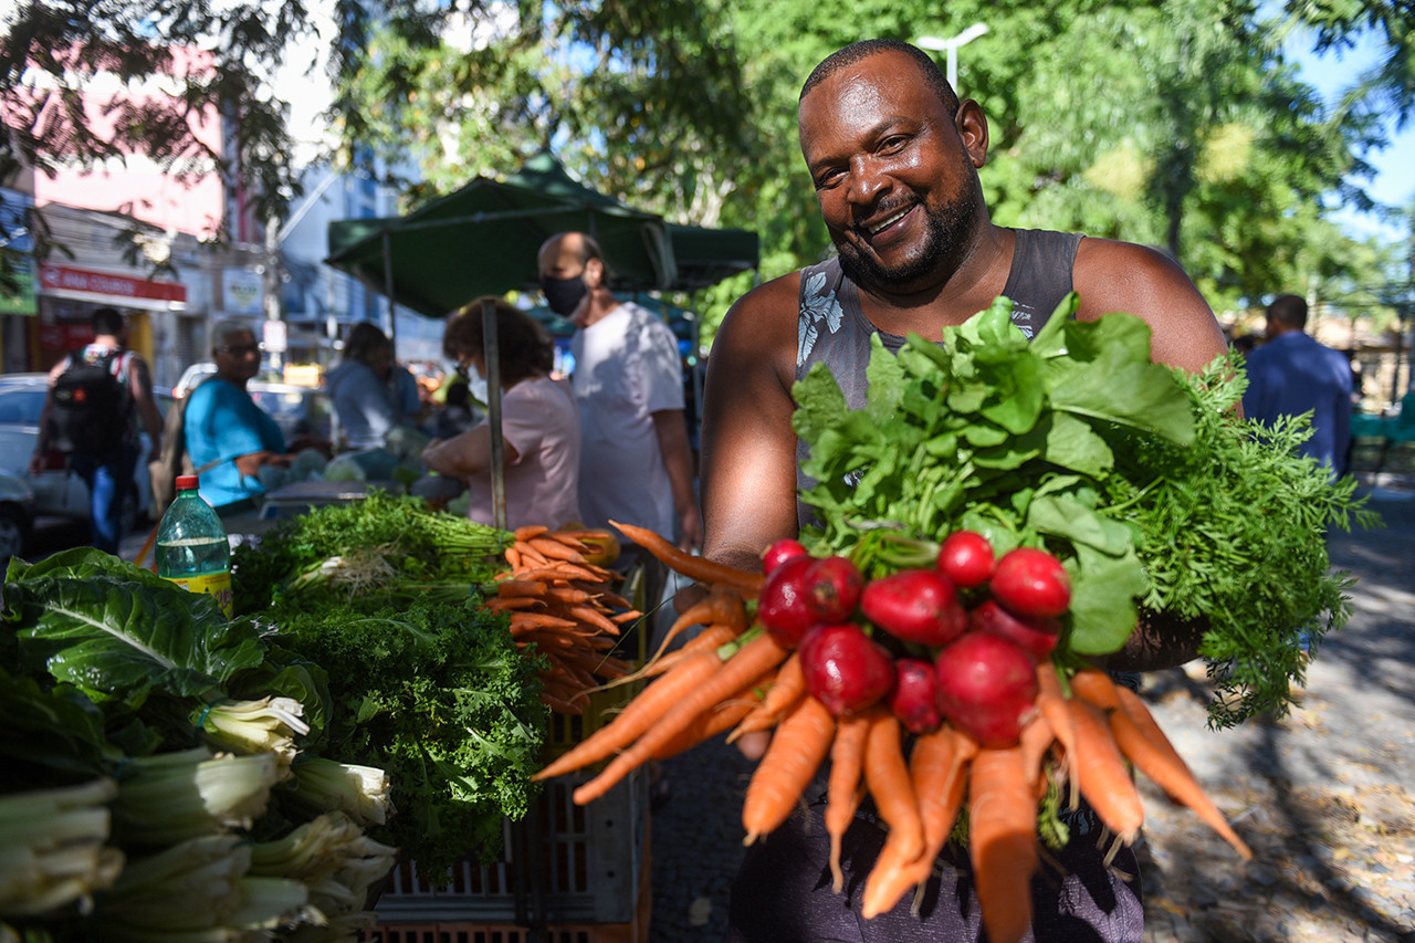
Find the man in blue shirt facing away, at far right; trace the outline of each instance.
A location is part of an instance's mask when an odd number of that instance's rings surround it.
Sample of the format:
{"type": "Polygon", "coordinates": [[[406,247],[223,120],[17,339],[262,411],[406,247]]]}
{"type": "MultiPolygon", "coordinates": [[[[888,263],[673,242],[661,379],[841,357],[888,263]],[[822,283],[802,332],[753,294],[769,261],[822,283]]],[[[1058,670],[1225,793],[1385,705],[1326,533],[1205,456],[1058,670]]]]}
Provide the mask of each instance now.
{"type": "Polygon", "coordinates": [[[1307,303],[1279,295],[1268,304],[1266,343],[1248,357],[1249,419],[1274,423],[1281,416],[1312,413],[1312,438],[1302,453],[1346,474],[1351,445],[1351,364],[1346,354],[1306,334],[1307,303]]]}

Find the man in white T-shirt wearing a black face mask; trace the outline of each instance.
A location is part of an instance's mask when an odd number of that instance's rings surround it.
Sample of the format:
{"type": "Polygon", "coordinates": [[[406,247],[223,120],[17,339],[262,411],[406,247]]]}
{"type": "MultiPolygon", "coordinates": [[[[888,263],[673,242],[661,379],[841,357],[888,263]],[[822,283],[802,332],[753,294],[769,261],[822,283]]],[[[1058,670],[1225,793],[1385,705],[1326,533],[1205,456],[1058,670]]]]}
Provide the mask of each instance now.
{"type": "Polygon", "coordinates": [[[678,340],[652,312],[614,297],[586,234],[550,236],[538,261],[546,304],[579,328],[570,350],[584,522],[637,524],[685,549],[702,547],[678,340]]]}

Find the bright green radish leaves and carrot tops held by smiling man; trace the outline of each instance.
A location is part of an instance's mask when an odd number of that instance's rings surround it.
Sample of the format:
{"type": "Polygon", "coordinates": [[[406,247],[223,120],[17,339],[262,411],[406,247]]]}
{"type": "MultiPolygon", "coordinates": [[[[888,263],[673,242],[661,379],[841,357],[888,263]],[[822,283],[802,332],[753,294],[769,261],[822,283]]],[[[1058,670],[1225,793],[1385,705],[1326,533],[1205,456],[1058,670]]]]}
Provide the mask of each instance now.
{"type": "Polygon", "coordinates": [[[1348,525],[1351,483],[1295,453],[1305,421],[1237,418],[1237,362],[1189,377],[1150,361],[1138,317],[1077,321],[1074,310],[1073,295],[1030,343],[1006,299],[940,344],[914,336],[893,354],[876,337],[857,411],[812,368],[794,389],[815,479],[801,494],[818,518],[808,538],[870,576],[931,561],[957,530],[999,555],[1044,547],[1073,582],[1063,657],[1119,650],[1142,606],[1207,619],[1214,722],[1281,711],[1302,670],[1299,629],[1346,619],[1324,535],[1348,525]],[[1272,527],[1279,518],[1251,507],[1293,517],[1272,527]]]}

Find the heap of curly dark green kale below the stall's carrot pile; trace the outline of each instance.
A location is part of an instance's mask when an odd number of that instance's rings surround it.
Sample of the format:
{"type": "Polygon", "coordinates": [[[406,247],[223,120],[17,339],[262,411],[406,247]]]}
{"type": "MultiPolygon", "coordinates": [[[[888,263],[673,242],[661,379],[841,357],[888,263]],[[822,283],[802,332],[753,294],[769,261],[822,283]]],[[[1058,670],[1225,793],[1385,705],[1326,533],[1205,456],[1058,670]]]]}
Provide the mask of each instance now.
{"type": "Polygon", "coordinates": [[[524,817],[533,796],[549,724],[539,665],[516,650],[505,616],[369,598],[262,619],[330,675],[323,752],[388,770],[398,814],[374,834],[433,881],[460,857],[494,859],[504,818],[524,817]]]}

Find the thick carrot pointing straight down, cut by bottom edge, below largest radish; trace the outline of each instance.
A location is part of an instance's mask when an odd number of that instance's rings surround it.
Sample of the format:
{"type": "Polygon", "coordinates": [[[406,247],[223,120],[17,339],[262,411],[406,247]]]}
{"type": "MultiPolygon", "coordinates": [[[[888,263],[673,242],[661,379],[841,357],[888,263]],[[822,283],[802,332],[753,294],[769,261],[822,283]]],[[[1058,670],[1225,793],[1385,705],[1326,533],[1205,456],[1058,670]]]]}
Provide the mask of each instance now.
{"type": "Polygon", "coordinates": [[[968,847],[992,943],[1017,943],[1032,926],[1037,803],[1024,762],[1020,746],[981,749],[968,775],[968,847]]]}

